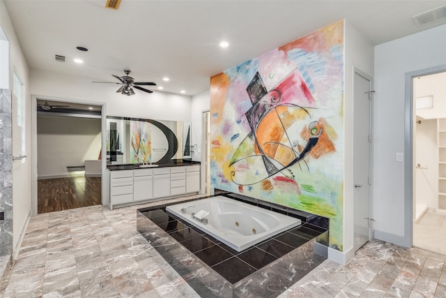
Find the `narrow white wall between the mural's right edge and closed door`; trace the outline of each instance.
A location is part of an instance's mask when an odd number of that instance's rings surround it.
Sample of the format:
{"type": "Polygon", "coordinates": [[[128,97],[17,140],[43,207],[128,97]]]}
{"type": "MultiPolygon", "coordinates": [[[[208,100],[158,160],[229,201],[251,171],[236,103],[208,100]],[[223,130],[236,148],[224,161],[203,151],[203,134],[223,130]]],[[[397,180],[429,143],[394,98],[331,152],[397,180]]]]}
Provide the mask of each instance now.
{"type": "Polygon", "coordinates": [[[344,74],[344,256],[329,258],[345,263],[353,256],[353,68],[370,77],[374,75],[374,48],[362,34],[345,22],[345,74],[344,74]],[[344,258],[341,260],[339,258],[344,258]]]}

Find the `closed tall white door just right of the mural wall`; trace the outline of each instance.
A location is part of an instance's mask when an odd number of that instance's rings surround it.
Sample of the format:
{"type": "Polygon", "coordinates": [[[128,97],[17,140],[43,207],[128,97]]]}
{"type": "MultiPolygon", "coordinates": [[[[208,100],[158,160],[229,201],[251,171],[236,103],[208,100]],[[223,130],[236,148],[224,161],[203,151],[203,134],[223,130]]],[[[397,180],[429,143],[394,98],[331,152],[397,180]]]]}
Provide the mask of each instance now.
{"type": "Polygon", "coordinates": [[[371,77],[353,79],[353,251],[371,240],[371,77]]]}

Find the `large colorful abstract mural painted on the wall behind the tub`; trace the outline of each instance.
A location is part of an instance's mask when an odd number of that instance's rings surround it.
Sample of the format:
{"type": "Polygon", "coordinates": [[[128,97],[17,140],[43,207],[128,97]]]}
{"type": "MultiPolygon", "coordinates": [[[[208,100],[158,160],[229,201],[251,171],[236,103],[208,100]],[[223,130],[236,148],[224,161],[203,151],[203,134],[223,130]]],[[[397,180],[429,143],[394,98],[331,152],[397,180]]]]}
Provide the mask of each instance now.
{"type": "Polygon", "coordinates": [[[210,79],[211,185],[330,218],[342,251],[344,21],[210,79]]]}

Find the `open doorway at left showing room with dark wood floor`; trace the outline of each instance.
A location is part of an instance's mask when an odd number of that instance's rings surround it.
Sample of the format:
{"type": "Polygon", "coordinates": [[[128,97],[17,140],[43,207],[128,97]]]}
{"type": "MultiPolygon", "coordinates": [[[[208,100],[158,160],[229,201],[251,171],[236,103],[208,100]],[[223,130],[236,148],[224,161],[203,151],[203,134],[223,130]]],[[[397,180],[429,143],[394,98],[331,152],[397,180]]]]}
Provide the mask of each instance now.
{"type": "Polygon", "coordinates": [[[102,204],[103,107],[33,99],[33,214],[102,204]]]}

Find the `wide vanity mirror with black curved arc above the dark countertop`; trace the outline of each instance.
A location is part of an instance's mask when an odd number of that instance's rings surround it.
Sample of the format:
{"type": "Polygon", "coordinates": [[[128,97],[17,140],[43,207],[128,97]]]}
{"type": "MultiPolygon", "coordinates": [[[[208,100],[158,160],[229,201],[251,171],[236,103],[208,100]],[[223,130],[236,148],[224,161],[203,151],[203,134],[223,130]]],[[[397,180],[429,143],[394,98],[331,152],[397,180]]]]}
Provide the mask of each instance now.
{"type": "Polygon", "coordinates": [[[192,158],[191,129],[190,122],[107,117],[107,164],[192,158]]]}

